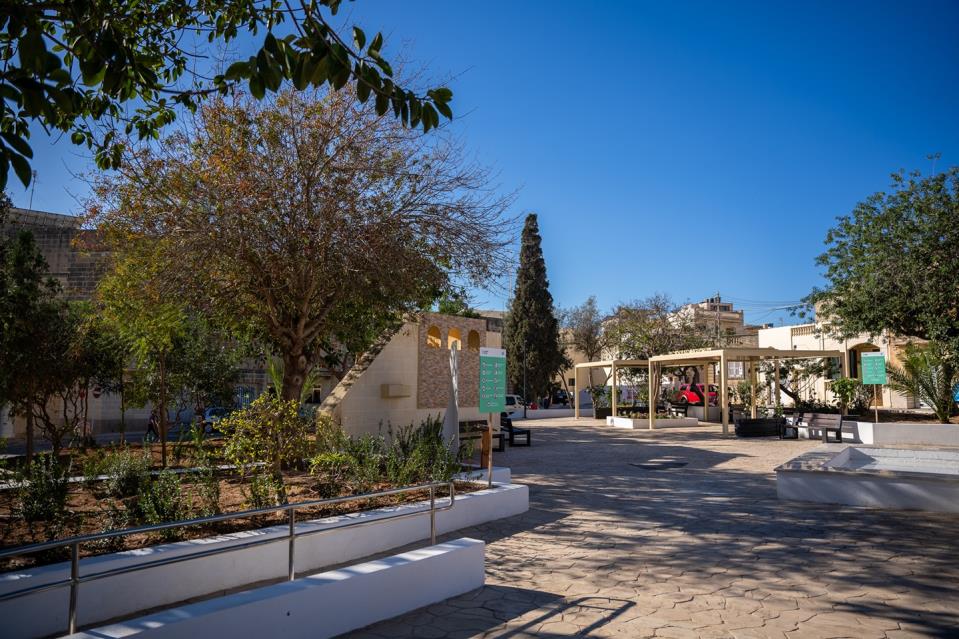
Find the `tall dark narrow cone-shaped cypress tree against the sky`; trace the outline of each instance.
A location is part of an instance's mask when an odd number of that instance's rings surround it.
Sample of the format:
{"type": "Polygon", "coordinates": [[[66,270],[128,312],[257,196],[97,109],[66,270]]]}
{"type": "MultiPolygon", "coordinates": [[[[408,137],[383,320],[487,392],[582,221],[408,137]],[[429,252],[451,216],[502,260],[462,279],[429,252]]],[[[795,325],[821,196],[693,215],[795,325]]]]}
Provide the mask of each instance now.
{"type": "MultiPolygon", "coordinates": [[[[559,321],[546,277],[536,214],[526,216],[516,287],[506,316],[506,370],[514,388],[543,397],[558,372],[569,365],[559,340],[559,321]]],[[[527,398],[528,399],[528,398],[527,398]]]]}

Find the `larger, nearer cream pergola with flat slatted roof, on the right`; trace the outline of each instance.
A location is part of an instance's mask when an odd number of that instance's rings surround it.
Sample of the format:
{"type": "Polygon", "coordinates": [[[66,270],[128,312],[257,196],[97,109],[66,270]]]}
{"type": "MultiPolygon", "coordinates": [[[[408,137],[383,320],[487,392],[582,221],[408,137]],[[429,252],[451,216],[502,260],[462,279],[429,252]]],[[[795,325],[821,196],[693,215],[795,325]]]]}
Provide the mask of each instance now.
{"type": "MultiPolygon", "coordinates": [[[[756,417],[756,365],[763,361],[772,361],[776,369],[775,401],[780,405],[779,363],[789,359],[818,359],[838,358],[843,376],[846,374],[846,360],[842,351],[800,351],[783,350],[778,348],[758,348],[752,346],[728,346],[726,348],[679,351],[666,355],[655,355],[649,358],[649,428],[656,424],[656,397],[659,396],[659,385],[662,380],[664,366],[701,366],[703,369],[702,383],[706,396],[703,401],[703,419],[709,416],[709,386],[706,383],[706,369],[711,364],[719,364],[719,405],[722,410],[723,434],[729,433],[729,362],[744,362],[749,380],[752,382],[752,417],[756,417]]],[[[581,366],[581,365],[580,365],[581,366]]],[[[615,414],[615,413],[614,413],[615,414]]],[[[579,416],[577,408],[576,416],[579,416]]]]}

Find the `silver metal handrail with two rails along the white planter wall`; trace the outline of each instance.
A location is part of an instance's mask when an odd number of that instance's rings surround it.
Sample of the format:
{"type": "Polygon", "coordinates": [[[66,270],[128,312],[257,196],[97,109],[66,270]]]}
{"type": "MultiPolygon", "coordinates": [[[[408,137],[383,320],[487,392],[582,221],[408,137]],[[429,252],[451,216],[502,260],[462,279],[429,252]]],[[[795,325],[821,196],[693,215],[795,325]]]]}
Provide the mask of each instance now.
{"type": "Polygon", "coordinates": [[[18,599],[20,597],[25,597],[27,595],[35,594],[38,592],[43,592],[45,590],[51,590],[53,588],[61,588],[64,586],[70,586],[70,607],[68,614],[68,634],[73,634],[77,631],[77,591],[79,590],[81,583],[86,583],[89,581],[96,581],[98,579],[104,579],[106,577],[113,577],[115,575],[122,575],[130,572],[136,572],[138,570],[146,570],[148,568],[154,568],[157,566],[166,566],[170,564],[176,564],[183,561],[191,561],[193,559],[201,559],[203,557],[210,557],[213,555],[219,555],[222,553],[233,552],[236,550],[243,550],[246,548],[252,548],[254,546],[261,546],[265,544],[275,544],[282,541],[286,541],[289,545],[288,553],[288,566],[287,566],[287,579],[293,581],[296,578],[296,538],[305,537],[307,535],[313,535],[323,532],[328,532],[330,530],[338,530],[340,528],[350,528],[353,526],[366,526],[369,524],[381,523],[384,521],[390,521],[392,519],[403,519],[405,517],[415,517],[425,513],[430,515],[430,545],[436,544],[436,513],[439,511],[450,510],[453,508],[453,504],[456,501],[456,486],[450,482],[432,482],[429,484],[418,484],[416,486],[406,486],[403,488],[391,488],[389,490],[381,490],[374,493],[362,493],[360,495],[350,495],[348,497],[333,497],[330,499],[315,499],[312,501],[301,501],[293,504],[281,504],[279,506],[269,506],[267,508],[254,508],[251,510],[241,510],[235,513],[224,513],[221,515],[211,515],[209,517],[199,517],[196,519],[187,519],[183,521],[173,521],[165,522],[162,524],[151,524],[148,526],[138,526],[136,528],[126,528],[124,530],[112,530],[102,533],[93,533],[89,535],[80,535],[77,537],[69,537],[67,539],[60,539],[57,541],[47,541],[39,544],[30,544],[27,546],[18,546],[16,548],[9,548],[7,550],[0,550],[0,559],[6,557],[18,557],[21,555],[30,555],[37,552],[42,552],[45,550],[53,550],[55,548],[64,548],[70,547],[70,577],[66,579],[61,579],[59,581],[50,582],[47,584],[42,584],[39,586],[30,586],[29,588],[22,588],[20,590],[14,590],[12,592],[7,592],[0,594],[0,602],[8,601],[10,599],[18,599]],[[446,487],[449,489],[449,503],[445,506],[436,506],[436,489],[446,487]],[[320,528],[316,530],[307,530],[297,532],[296,530],[296,511],[304,508],[312,508],[314,506],[330,506],[333,504],[342,504],[349,501],[361,501],[374,499],[376,497],[386,497],[389,495],[401,495],[404,493],[419,492],[422,490],[429,490],[430,495],[430,505],[428,509],[416,510],[409,513],[396,513],[392,515],[387,515],[385,517],[378,517],[372,520],[354,520],[354,521],[345,521],[342,524],[336,526],[330,526],[328,528],[320,528]],[[252,541],[247,541],[241,544],[226,546],[222,548],[211,548],[207,550],[200,550],[198,552],[190,553],[181,557],[168,557],[165,559],[157,559],[154,561],[147,561],[143,563],[138,563],[133,566],[125,566],[121,568],[113,568],[110,570],[102,570],[100,572],[95,572],[89,575],[81,576],[80,575],[80,545],[84,543],[89,543],[91,541],[99,541],[101,539],[111,539],[114,537],[127,537],[129,535],[136,535],[141,533],[157,532],[160,530],[169,530],[171,528],[185,528],[187,526],[196,526],[200,524],[211,524],[220,521],[229,521],[231,519],[246,519],[248,517],[256,517],[258,515],[268,515],[272,513],[287,512],[289,513],[288,519],[288,533],[285,537],[275,537],[268,539],[256,539],[252,541]]]}

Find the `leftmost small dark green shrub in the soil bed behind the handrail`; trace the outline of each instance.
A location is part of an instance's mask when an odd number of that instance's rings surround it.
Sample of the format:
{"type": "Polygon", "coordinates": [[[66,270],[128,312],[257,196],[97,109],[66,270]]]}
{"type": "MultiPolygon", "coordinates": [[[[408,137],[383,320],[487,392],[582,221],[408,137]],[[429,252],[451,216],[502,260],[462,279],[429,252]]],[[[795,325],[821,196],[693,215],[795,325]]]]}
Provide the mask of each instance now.
{"type": "MultiPolygon", "coordinates": [[[[17,511],[28,524],[44,522],[48,531],[61,526],[68,517],[70,464],[53,455],[39,455],[19,474],[17,511]]],[[[54,535],[55,533],[50,533],[54,535]]]]}

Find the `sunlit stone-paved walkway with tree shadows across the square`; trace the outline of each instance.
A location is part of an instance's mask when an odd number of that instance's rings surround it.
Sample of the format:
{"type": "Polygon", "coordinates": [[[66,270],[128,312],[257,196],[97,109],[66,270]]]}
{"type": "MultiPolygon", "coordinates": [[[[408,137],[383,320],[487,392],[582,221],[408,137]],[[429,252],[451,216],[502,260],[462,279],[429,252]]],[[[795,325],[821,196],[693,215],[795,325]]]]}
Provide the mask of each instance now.
{"type": "Polygon", "coordinates": [[[815,442],[530,422],[486,587],[354,637],[959,637],[959,517],[780,502],[815,442]],[[687,462],[671,470],[633,464],[687,462]]]}

